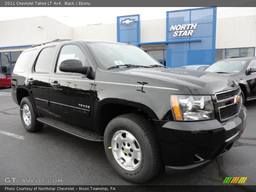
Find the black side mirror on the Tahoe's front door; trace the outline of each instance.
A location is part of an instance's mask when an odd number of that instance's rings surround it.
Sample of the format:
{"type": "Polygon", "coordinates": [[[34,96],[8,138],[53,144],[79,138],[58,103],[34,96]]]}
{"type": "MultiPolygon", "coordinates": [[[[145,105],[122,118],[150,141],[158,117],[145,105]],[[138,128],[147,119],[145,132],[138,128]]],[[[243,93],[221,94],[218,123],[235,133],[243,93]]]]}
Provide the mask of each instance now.
{"type": "Polygon", "coordinates": [[[81,73],[82,77],[86,77],[90,72],[89,66],[83,66],[80,60],[68,59],[60,63],[60,71],[69,73],[81,73]]]}

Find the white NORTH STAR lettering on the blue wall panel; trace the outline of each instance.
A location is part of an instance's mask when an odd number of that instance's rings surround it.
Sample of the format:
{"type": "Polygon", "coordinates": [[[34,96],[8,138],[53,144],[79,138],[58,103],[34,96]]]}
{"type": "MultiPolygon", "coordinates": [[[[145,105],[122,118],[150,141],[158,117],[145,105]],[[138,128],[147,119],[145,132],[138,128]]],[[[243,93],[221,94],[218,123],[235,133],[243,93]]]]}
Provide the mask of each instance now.
{"type": "Polygon", "coordinates": [[[196,28],[197,23],[184,24],[184,25],[172,25],[170,31],[174,31],[174,37],[177,36],[191,36],[196,28]]]}

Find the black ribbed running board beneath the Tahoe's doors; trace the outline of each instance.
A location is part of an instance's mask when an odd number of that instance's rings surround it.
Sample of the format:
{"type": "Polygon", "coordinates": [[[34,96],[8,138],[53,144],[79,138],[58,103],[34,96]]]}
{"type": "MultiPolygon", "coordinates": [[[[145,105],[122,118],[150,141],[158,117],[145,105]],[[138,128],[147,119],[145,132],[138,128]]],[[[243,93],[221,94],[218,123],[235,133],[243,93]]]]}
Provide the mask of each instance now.
{"type": "Polygon", "coordinates": [[[37,121],[42,124],[47,124],[53,128],[59,129],[60,131],[80,137],[82,139],[91,140],[91,141],[103,141],[103,138],[94,132],[86,131],[84,129],[54,120],[52,118],[39,117],[37,118],[37,121]]]}

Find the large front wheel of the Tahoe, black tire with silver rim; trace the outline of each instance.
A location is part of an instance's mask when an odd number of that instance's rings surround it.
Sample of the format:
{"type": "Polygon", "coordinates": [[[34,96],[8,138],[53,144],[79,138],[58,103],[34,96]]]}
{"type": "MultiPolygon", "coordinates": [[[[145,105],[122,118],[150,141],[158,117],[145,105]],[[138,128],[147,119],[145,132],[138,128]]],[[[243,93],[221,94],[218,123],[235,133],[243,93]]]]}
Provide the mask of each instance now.
{"type": "MultiPolygon", "coordinates": [[[[124,114],[112,119],[108,123],[104,133],[104,148],[111,166],[122,178],[128,181],[134,183],[146,182],[154,177],[161,168],[161,155],[154,126],[143,116],[124,114]],[[122,136],[119,137],[117,133],[122,136]],[[114,135],[116,135],[117,140],[112,140],[114,135]],[[126,138],[127,135],[130,136],[126,138]],[[135,138],[136,142],[131,142],[129,146],[129,140],[132,136],[135,138]],[[118,143],[119,138],[124,140],[118,143]],[[112,146],[112,141],[118,143],[118,148],[116,143],[112,146]],[[127,145],[124,146],[124,142],[126,142],[127,145]],[[134,165],[134,167],[131,165],[130,168],[124,168],[123,166],[126,166],[126,161],[125,163],[121,163],[121,161],[124,162],[123,159],[118,163],[114,155],[115,152],[113,152],[114,149],[117,149],[116,154],[121,154],[122,158],[126,158],[126,160],[131,153],[131,162],[133,162],[132,165],[134,165]],[[125,157],[123,153],[125,153],[126,150],[128,151],[125,157]],[[136,159],[137,161],[135,161],[134,158],[136,154],[139,154],[138,150],[140,150],[140,160],[138,161],[136,159]],[[136,162],[138,163],[135,164],[136,162]]],[[[129,159],[127,160],[127,164],[129,164],[129,159]]]]}

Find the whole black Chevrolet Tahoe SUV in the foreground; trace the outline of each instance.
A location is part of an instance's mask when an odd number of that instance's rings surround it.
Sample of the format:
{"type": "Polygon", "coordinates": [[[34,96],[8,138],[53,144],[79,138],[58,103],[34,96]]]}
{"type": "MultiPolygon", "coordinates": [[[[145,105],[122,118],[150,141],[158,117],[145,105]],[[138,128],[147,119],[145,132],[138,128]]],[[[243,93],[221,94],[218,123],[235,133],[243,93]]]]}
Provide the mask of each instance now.
{"type": "Polygon", "coordinates": [[[127,44],[56,40],[21,53],[12,98],[23,126],[92,141],[124,179],[196,171],[227,152],[246,125],[228,76],[164,67],[127,44]]]}

